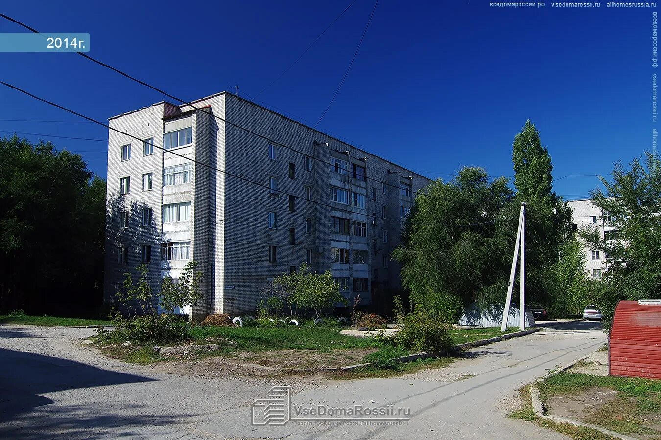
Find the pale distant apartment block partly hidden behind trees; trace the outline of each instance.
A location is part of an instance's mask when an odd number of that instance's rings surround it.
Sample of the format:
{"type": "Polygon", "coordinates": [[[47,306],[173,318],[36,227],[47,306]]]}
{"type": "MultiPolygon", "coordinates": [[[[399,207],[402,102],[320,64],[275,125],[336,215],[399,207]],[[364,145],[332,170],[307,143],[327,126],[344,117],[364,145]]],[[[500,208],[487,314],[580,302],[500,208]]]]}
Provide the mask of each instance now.
{"type": "MultiPolygon", "coordinates": [[[[610,216],[591,200],[570,201],[574,220],[574,230],[596,230],[602,239],[619,239],[619,234],[610,224],[610,216]]],[[[596,251],[587,245],[583,248],[585,255],[585,271],[592,278],[600,278],[608,269],[606,256],[602,251],[596,251]]]]}

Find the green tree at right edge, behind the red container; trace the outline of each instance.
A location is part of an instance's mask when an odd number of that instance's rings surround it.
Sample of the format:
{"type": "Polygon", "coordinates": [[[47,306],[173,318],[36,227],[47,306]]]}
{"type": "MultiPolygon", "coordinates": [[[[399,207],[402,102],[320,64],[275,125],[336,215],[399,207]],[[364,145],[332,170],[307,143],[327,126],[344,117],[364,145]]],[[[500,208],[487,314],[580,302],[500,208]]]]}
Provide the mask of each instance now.
{"type": "Polygon", "coordinates": [[[629,169],[615,164],[612,179],[600,177],[604,190],[592,191],[608,226],[584,230],[582,239],[605,254],[607,270],[599,284],[597,305],[610,321],[620,299],[658,298],[661,292],[661,162],[646,152],[629,169]]]}

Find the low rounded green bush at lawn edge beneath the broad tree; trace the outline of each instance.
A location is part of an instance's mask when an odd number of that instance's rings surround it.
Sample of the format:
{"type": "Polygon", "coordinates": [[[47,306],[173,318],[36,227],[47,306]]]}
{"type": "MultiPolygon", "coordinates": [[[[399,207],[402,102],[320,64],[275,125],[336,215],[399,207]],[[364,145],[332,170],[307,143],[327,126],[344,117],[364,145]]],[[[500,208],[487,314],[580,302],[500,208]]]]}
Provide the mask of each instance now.
{"type": "Polygon", "coordinates": [[[418,309],[407,315],[397,333],[397,344],[417,352],[441,352],[453,346],[452,325],[442,317],[418,309]]]}

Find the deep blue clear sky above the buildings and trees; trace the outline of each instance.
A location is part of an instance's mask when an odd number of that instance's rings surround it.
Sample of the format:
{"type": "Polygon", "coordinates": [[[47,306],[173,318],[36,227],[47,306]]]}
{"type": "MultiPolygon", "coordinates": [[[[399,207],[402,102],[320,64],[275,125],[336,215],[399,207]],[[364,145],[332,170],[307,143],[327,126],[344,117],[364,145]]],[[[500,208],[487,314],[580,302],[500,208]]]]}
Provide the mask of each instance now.
{"type": "MultiPolygon", "coordinates": [[[[314,125],[356,50],[370,0],[357,0],[255,96],[351,1],[30,1],[5,2],[2,11],[42,32],[89,32],[89,55],[175,96],[194,100],[238,84],[243,96],[314,125]]],[[[449,179],[461,166],[512,175],[512,139],[529,118],[553,158],[557,193],[584,197],[596,177],[560,177],[607,173],[651,148],[652,9],[605,3],[381,0],[318,128],[449,179]]],[[[22,29],[0,18],[0,32],[22,29]]],[[[0,53],[0,66],[0,79],[100,120],[163,100],[75,54],[0,53]]],[[[77,121],[4,87],[0,100],[0,119],[77,121]]],[[[0,130],[108,136],[91,123],[0,121],[0,130]]],[[[105,176],[103,142],[50,140],[81,151],[105,176]]]]}

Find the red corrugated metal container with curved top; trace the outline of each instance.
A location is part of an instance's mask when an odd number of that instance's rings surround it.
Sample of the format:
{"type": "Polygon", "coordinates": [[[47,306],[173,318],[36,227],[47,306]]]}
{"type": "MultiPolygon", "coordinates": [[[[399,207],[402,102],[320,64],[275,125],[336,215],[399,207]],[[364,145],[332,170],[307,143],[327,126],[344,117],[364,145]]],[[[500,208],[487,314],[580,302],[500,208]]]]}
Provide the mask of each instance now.
{"type": "Polygon", "coordinates": [[[617,303],[610,334],[608,374],[661,379],[661,304],[617,303]]]}

